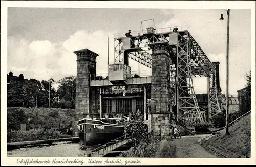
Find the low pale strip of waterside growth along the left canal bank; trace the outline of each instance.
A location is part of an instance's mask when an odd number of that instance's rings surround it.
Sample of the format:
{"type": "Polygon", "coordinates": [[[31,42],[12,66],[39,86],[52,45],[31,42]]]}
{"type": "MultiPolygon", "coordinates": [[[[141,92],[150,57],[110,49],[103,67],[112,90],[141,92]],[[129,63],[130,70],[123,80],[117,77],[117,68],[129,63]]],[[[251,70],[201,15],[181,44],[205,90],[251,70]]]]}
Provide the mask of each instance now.
{"type": "Polygon", "coordinates": [[[31,129],[29,131],[8,130],[7,142],[34,141],[60,138],[60,131],[54,129],[31,129]]]}

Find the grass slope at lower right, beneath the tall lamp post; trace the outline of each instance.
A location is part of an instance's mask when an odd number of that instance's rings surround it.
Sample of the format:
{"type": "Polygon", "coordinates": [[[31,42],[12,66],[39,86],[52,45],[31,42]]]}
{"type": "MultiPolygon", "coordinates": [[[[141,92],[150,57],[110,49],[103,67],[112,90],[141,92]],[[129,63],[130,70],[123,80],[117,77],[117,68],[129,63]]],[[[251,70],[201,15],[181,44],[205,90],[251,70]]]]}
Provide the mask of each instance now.
{"type": "Polygon", "coordinates": [[[237,153],[243,157],[250,157],[251,152],[251,121],[250,114],[241,118],[239,121],[234,123],[229,127],[230,135],[225,135],[225,129],[220,132],[220,134],[213,136],[204,144],[210,145],[212,147],[219,146],[217,150],[224,153],[230,158],[238,157],[237,153]],[[230,152],[231,151],[231,152],[230,152]]]}

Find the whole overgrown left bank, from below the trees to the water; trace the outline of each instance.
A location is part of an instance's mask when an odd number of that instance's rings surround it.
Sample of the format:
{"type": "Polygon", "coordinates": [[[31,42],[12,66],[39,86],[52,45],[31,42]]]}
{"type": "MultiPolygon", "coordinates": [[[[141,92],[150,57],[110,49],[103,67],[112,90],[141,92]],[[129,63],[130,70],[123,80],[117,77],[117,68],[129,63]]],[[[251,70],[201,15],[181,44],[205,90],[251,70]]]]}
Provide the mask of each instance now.
{"type": "Polygon", "coordinates": [[[72,125],[74,113],[74,109],[8,107],[7,142],[60,138],[72,125]],[[21,123],[26,123],[27,131],[20,131],[21,123]]]}

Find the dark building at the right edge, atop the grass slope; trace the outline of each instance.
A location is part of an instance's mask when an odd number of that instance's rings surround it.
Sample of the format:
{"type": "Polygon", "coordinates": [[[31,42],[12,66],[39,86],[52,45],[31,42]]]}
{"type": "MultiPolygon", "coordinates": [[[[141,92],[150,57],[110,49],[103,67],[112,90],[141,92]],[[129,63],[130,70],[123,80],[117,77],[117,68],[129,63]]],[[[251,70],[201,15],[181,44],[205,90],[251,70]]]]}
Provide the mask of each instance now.
{"type": "Polygon", "coordinates": [[[251,94],[248,91],[250,91],[249,86],[238,90],[239,112],[241,113],[246,113],[251,110],[251,94]]]}

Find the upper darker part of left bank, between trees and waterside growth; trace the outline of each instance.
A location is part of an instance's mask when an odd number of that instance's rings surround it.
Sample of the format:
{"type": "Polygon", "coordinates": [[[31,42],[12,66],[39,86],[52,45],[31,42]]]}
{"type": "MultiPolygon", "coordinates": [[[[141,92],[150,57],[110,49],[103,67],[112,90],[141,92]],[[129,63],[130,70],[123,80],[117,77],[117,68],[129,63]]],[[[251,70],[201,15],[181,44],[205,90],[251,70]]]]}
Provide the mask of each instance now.
{"type": "Polygon", "coordinates": [[[19,130],[20,123],[27,123],[32,129],[54,128],[66,132],[72,124],[73,109],[8,107],[8,129],[19,130]]]}

